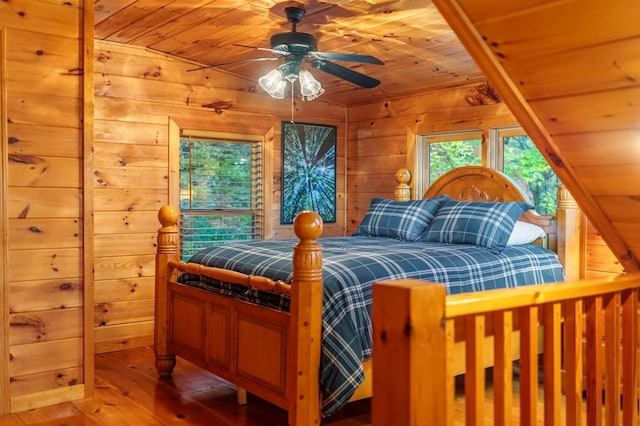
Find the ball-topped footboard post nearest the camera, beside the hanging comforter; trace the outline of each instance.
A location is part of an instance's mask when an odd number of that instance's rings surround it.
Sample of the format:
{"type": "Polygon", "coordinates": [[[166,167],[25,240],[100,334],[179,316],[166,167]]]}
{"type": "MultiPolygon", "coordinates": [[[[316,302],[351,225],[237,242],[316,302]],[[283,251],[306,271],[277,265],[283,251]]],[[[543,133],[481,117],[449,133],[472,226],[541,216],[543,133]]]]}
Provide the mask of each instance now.
{"type": "Polygon", "coordinates": [[[298,213],[293,230],[291,320],[287,353],[287,394],[290,425],[320,424],[320,339],[322,335],[322,218],[313,211],[298,213]]]}

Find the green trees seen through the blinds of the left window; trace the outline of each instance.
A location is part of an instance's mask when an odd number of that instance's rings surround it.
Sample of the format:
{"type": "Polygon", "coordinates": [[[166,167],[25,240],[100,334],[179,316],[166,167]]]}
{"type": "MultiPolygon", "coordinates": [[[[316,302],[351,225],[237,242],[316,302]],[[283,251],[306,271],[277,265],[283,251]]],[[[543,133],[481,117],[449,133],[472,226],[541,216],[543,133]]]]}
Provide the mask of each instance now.
{"type": "Polygon", "coordinates": [[[180,140],[182,257],[230,240],[261,237],[257,142],[180,140]]]}

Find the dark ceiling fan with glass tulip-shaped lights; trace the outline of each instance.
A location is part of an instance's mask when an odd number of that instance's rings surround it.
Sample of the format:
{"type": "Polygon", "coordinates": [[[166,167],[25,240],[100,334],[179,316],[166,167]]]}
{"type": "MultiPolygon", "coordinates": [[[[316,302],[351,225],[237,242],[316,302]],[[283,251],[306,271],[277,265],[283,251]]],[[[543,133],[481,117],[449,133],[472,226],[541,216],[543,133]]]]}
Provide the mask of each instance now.
{"type": "MultiPolygon", "coordinates": [[[[334,75],[367,89],[376,87],[380,84],[380,81],[373,77],[369,77],[368,75],[354,71],[332,61],[359,62],[376,65],[383,65],[384,62],[370,55],[318,51],[318,40],[315,36],[308,33],[298,32],[296,30],[297,25],[302,21],[302,18],[305,15],[305,10],[299,7],[287,7],[285,8],[285,12],[287,14],[287,20],[291,22],[291,31],[272,35],[270,43],[271,47],[265,48],[235,44],[235,46],[248,47],[252,49],[271,52],[277,55],[276,57],[251,58],[242,61],[205,65],[202,67],[190,69],[189,71],[196,71],[205,68],[216,68],[246,62],[284,59],[284,64],[279,66],[277,70],[272,71],[272,73],[279,73],[278,78],[285,82],[283,84],[286,84],[286,81],[294,82],[300,79],[300,83],[301,85],[303,85],[303,80],[306,80],[308,76],[310,76],[310,73],[308,71],[302,69],[303,62],[309,63],[311,67],[319,69],[320,71],[324,71],[328,74],[334,75]]],[[[313,77],[311,77],[311,79],[313,79],[313,77]]],[[[313,79],[313,82],[315,82],[315,84],[317,84],[317,86],[319,87],[320,84],[315,81],[315,79],[313,79]]],[[[260,83],[260,85],[263,86],[262,82],[260,83]]],[[[284,88],[282,88],[282,90],[284,90],[284,88]]],[[[320,90],[322,89],[320,88],[320,90]]],[[[270,92],[270,94],[274,96],[273,93],[270,92]]],[[[317,95],[314,97],[317,97],[317,95]]]]}

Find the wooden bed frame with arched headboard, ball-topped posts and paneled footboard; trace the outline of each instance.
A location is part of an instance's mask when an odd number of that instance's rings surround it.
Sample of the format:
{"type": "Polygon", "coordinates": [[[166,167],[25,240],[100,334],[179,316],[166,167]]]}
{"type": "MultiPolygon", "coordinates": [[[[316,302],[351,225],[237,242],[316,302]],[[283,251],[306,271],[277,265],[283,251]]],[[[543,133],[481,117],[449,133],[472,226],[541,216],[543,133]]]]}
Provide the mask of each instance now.
{"type": "MultiPolygon", "coordinates": [[[[396,173],[396,198],[408,199],[409,172],[396,173]]],[[[504,175],[484,167],[463,167],[438,179],[425,197],[448,194],[464,201],[526,201],[504,175]]],[[[577,277],[581,258],[581,213],[568,192],[559,191],[555,217],[527,212],[522,220],[539,224],[548,234],[547,245],[557,251],[567,276],[577,277]]],[[[299,242],[293,248],[291,286],[267,278],[250,277],[216,268],[180,262],[179,212],[164,206],[158,213],[155,285],[155,353],[161,377],[169,377],[175,356],[236,384],[239,400],[244,390],[288,410],[290,425],[320,424],[320,336],[322,312],[322,247],[317,239],[322,221],[315,212],[303,212],[294,222],[299,242]],[[190,270],[222,281],[289,292],[290,312],[280,312],[178,284],[180,270],[190,270]],[[261,354],[256,357],[255,354],[261,354]]],[[[487,346],[488,364],[492,348],[487,346]]],[[[518,356],[518,348],[514,349],[518,356]]],[[[371,362],[365,362],[365,382],[352,400],[372,394],[371,362]]],[[[457,374],[465,371],[456,366],[457,374]]]]}

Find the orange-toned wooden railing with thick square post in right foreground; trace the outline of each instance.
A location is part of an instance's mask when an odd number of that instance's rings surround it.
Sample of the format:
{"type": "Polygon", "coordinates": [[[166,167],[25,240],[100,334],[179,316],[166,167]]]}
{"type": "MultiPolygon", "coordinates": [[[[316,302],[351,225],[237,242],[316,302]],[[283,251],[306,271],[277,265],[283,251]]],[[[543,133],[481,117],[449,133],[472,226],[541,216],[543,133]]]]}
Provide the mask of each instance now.
{"type": "Polygon", "coordinates": [[[453,425],[456,415],[466,425],[518,424],[517,417],[523,425],[638,425],[639,297],[640,274],[455,296],[420,281],[377,283],[373,425],[453,425]],[[465,339],[461,355],[456,336],[465,339]],[[520,346],[516,372],[512,345],[520,346]],[[465,358],[463,410],[456,356],[465,358]]]}

